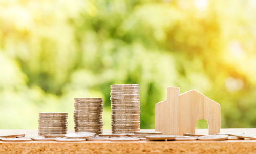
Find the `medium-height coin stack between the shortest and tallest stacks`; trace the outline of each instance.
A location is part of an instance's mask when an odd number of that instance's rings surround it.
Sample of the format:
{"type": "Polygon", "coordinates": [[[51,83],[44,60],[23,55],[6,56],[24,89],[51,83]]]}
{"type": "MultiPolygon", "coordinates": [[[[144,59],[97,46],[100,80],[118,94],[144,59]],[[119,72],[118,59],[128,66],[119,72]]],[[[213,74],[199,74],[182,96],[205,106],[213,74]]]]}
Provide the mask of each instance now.
{"type": "Polygon", "coordinates": [[[75,132],[93,132],[100,134],[103,132],[102,97],[95,98],[75,98],[74,122],[75,132]]]}

